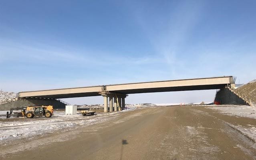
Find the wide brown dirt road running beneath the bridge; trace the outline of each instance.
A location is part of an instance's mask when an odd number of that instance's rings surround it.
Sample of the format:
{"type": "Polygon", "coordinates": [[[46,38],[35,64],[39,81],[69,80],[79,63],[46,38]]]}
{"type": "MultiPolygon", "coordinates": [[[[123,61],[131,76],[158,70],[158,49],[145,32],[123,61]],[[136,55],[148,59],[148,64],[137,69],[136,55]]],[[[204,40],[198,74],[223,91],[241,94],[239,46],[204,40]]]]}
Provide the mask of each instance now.
{"type": "Polygon", "coordinates": [[[205,107],[145,108],[120,113],[94,126],[31,139],[19,146],[10,145],[2,149],[33,146],[35,142],[45,143],[16,154],[6,154],[3,158],[12,160],[256,159],[255,143],[228,125],[240,121],[256,125],[254,119],[226,116],[205,107]]]}

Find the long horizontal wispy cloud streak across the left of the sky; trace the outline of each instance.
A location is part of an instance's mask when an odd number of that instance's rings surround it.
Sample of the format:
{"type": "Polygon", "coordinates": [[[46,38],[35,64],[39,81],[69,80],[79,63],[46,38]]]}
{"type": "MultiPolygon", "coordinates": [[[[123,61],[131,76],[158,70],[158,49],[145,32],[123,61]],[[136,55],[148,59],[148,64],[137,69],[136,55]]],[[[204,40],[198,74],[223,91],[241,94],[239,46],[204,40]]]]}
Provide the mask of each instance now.
{"type": "MultiPolygon", "coordinates": [[[[80,64],[97,64],[101,65],[112,65],[112,64],[149,64],[152,62],[160,62],[161,58],[156,56],[125,56],[126,53],[109,56],[111,53],[108,51],[102,52],[94,49],[79,50],[74,48],[74,52],[69,48],[69,51],[66,51],[65,48],[58,48],[55,46],[48,46],[44,44],[42,46],[20,44],[17,42],[9,42],[6,44],[4,40],[0,42],[0,52],[3,57],[1,60],[10,62],[20,61],[20,58],[27,60],[37,60],[37,62],[71,62],[80,64]],[[16,58],[15,58],[16,57],[16,58]]],[[[129,55],[129,54],[127,54],[129,55]]]]}

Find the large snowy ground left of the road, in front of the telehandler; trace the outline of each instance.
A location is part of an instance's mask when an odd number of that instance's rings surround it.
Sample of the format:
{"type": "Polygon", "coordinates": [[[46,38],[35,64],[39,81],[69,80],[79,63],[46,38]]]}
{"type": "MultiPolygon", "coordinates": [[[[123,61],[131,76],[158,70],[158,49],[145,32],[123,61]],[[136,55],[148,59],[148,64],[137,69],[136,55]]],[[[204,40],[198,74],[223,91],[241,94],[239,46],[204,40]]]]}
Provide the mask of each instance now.
{"type": "MultiPolygon", "coordinates": [[[[1,111],[2,113],[3,111],[1,111]]],[[[4,111],[6,114],[6,111],[4,111]]],[[[55,111],[51,118],[19,117],[15,120],[0,121],[0,145],[9,143],[11,140],[20,138],[32,138],[35,135],[69,130],[80,126],[88,126],[108,120],[118,112],[95,114],[94,116],[82,116],[81,114],[66,115],[64,111],[55,111]]]]}

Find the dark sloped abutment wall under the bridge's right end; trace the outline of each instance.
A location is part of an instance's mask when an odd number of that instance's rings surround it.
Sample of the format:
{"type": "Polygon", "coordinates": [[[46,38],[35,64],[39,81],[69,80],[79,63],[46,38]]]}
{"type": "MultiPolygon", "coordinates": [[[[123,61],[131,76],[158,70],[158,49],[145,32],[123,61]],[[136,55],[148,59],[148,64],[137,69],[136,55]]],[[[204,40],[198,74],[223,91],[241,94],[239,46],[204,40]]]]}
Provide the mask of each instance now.
{"type": "Polygon", "coordinates": [[[223,88],[216,94],[215,98],[216,102],[220,102],[220,104],[244,104],[244,100],[239,98],[236,94],[231,92],[228,88],[223,88]]]}

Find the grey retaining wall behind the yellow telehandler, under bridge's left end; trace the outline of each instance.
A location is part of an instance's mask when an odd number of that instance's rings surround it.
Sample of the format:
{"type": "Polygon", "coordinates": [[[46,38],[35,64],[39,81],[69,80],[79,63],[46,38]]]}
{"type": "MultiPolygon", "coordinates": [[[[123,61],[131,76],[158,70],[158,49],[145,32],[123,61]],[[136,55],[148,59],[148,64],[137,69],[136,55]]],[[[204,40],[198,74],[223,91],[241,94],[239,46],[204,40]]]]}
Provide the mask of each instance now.
{"type": "Polygon", "coordinates": [[[18,99],[17,101],[0,104],[0,110],[10,110],[10,108],[24,107],[24,106],[48,106],[52,105],[54,109],[65,108],[66,104],[58,100],[31,100],[31,99],[18,99]]]}

